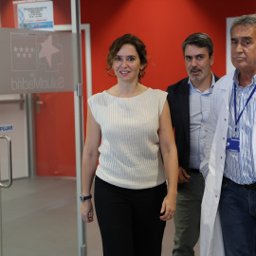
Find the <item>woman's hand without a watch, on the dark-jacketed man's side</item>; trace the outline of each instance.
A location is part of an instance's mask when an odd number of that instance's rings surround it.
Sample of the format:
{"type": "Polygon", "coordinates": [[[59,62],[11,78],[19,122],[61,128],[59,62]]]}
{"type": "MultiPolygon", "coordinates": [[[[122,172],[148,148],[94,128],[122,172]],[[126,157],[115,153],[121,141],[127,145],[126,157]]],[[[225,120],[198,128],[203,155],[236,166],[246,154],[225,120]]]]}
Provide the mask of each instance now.
{"type": "Polygon", "coordinates": [[[174,217],[176,210],[176,195],[167,194],[163,200],[162,208],[160,211],[160,219],[162,221],[171,220],[174,217]]]}

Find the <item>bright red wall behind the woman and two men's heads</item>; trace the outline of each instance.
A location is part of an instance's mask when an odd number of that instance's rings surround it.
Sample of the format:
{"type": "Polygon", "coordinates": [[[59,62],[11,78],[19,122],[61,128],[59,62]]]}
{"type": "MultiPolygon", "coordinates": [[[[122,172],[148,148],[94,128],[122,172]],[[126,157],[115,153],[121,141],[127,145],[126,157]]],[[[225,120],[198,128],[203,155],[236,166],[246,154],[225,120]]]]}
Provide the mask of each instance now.
{"type": "MultiPolygon", "coordinates": [[[[12,1],[0,3],[2,27],[14,27],[12,1]]],[[[53,8],[56,25],[71,24],[70,0],[53,0],[53,8]]],[[[150,64],[142,83],[165,90],[187,76],[181,44],[194,32],[210,35],[215,55],[212,70],[225,75],[226,18],[256,12],[256,1],[81,0],[81,12],[82,24],[91,25],[94,94],[117,82],[105,70],[106,55],[112,42],[124,33],[136,34],[147,46],[150,64]]]]}

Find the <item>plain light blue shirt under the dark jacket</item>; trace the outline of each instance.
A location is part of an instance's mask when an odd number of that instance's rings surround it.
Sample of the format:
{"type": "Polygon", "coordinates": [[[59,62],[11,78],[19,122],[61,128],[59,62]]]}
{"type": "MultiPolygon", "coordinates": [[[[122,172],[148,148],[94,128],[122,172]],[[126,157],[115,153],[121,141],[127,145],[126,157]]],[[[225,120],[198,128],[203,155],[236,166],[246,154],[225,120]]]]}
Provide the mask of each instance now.
{"type": "Polygon", "coordinates": [[[203,93],[196,89],[189,79],[190,86],[190,136],[191,155],[190,168],[199,169],[201,160],[204,158],[204,147],[206,137],[206,122],[210,113],[211,92],[215,83],[212,74],[210,89],[203,93]]]}

